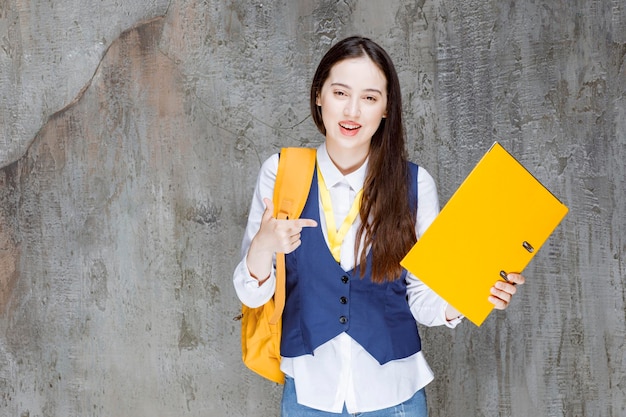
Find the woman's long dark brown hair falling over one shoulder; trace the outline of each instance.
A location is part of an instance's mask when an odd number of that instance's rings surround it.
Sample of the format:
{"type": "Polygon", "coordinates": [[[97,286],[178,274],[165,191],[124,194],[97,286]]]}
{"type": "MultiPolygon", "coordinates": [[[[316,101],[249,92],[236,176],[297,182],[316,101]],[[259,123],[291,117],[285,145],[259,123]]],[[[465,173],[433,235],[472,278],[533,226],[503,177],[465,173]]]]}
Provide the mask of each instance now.
{"type": "Polygon", "coordinates": [[[370,144],[369,164],[361,201],[361,226],[354,248],[361,276],[365,273],[366,251],[371,245],[372,281],[385,282],[402,274],[400,261],[415,244],[415,208],[409,203],[409,173],[402,123],[402,97],[398,74],[391,58],[378,44],[360,36],[346,38],[324,55],[311,84],[311,114],[318,130],[326,135],[322,111],[316,99],[331,68],[348,58],[368,56],[387,78],[387,117],[370,144]],[[359,242],[364,245],[359,253],[359,242]]]}

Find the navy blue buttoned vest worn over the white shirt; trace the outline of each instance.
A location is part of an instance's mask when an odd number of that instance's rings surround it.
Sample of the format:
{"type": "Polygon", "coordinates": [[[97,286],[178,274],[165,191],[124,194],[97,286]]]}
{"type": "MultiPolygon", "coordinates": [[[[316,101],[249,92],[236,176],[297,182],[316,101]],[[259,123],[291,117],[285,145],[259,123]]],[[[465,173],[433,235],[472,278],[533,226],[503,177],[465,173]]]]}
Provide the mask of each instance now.
{"type": "MultiPolygon", "coordinates": [[[[417,204],[417,165],[410,166],[412,206],[417,204]]],[[[344,271],[326,245],[319,226],[317,172],[300,216],[318,222],[302,230],[302,245],[286,256],[287,301],[280,353],[312,354],[320,345],[346,332],[380,364],[421,350],[417,323],[406,300],[406,271],[395,281],[371,280],[371,253],[363,278],[358,268],[344,271]]]]}

